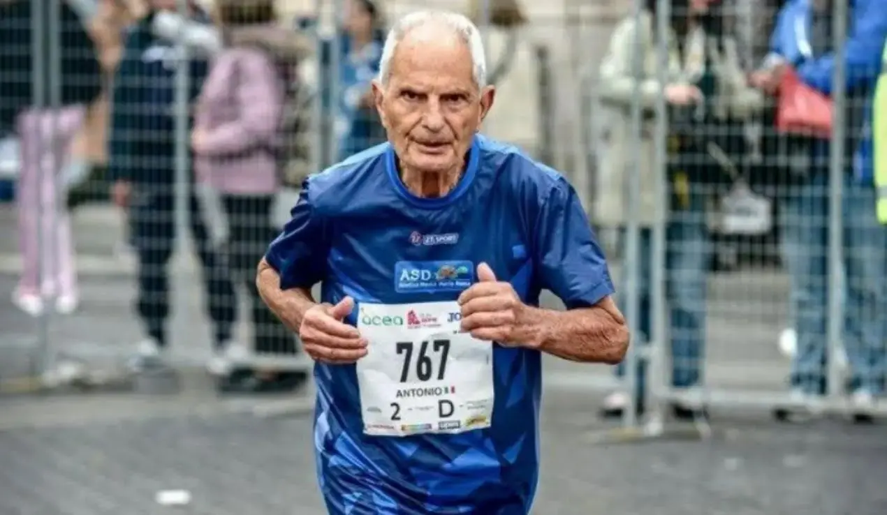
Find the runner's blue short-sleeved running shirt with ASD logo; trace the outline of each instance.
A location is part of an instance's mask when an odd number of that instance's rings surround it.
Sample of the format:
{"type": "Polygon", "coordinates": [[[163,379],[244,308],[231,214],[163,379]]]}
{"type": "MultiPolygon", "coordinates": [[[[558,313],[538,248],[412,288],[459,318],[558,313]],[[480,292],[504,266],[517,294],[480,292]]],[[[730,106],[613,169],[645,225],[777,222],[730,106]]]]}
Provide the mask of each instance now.
{"type": "MultiPolygon", "coordinates": [[[[530,305],[543,289],[568,308],[613,293],[576,192],[552,169],[478,136],[457,187],[421,199],[401,182],[395,159],[381,144],[310,177],[266,255],[281,288],[322,282],[322,300],[332,304],[350,295],[355,325],[361,303],[456,300],[483,261],[530,305]]],[[[491,425],[458,434],[366,435],[356,365],[315,366],[314,444],[331,514],[530,511],[541,355],[490,345],[491,425]]]]}

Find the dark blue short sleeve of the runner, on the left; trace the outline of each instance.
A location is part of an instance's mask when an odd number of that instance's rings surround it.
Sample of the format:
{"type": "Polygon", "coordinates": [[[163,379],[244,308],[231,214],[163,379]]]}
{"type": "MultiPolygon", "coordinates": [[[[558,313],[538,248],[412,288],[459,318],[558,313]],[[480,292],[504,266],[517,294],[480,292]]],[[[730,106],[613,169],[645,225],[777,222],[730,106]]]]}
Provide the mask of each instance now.
{"type": "Polygon", "coordinates": [[[328,231],[310,197],[310,181],[305,181],[289,222],[265,253],[265,261],[280,276],[281,290],[310,288],[326,273],[328,231]]]}

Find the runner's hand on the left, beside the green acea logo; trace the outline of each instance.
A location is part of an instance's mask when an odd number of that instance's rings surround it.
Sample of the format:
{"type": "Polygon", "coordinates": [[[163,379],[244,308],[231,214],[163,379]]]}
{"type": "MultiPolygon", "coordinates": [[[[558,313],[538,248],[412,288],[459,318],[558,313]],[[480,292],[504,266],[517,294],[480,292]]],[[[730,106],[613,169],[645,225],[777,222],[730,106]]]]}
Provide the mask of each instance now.
{"type": "Polygon", "coordinates": [[[366,355],[366,340],[357,328],[342,322],[354,310],[354,299],[345,297],[335,306],[318,304],[305,312],[299,338],[305,353],[321,363],[355,363],[366,355]]]}

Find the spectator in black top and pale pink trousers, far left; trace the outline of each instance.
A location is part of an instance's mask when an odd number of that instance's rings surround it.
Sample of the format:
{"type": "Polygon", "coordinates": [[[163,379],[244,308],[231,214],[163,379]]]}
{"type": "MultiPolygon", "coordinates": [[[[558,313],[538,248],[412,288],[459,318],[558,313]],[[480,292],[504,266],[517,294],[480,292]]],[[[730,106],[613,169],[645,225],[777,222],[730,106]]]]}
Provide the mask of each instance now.
{"type": "Polygon", "coordinates": [[[98,97],[101,68],[89,20],[62,2],[59,106],[45,106],[49,97],[35,98],[32,17],[46,13],[33,12],[32,5],[28,0],[0,4],[0,124],[14,126],[20,138],[17,200],[22,274],[12,299],[36,316],[43,311],[41,290],[55,296],[55,308],[61,313],[70,313],[77,305],[74,245],[61,169],[82,124],[84,105],[98,97]]]}

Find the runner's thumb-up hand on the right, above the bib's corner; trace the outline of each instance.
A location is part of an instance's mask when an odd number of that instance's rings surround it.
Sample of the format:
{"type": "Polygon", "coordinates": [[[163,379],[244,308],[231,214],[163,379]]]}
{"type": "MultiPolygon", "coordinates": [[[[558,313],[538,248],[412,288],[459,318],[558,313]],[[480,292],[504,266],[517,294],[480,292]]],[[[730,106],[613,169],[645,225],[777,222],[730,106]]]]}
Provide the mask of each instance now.
{"type": "Polygon", "coordinates": [[[477,283],[459,295],[462,331],[476,339],[514,345],[514,328],[522,309],[521,298],[510,283],[498,281],[487,263],[477,265],[477,283]]]}

